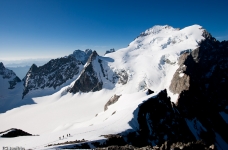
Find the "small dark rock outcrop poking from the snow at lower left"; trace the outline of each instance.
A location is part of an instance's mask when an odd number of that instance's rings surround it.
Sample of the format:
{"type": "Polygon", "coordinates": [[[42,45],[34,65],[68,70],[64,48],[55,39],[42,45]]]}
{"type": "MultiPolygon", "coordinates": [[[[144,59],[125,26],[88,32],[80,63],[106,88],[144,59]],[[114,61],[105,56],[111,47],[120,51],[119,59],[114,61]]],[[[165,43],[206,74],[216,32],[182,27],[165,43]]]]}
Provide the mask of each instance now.
{"type": "Polygon", "coordinates": [[[18,137],[18,136],[31,136],[32,134],[29,134],[23,130],[20,129],[9,129],[3,132],[0,132],[0,134],[3,134],[1,137],[18,137]],[[4,134],[5,133],[5,134],[4,134]]]}

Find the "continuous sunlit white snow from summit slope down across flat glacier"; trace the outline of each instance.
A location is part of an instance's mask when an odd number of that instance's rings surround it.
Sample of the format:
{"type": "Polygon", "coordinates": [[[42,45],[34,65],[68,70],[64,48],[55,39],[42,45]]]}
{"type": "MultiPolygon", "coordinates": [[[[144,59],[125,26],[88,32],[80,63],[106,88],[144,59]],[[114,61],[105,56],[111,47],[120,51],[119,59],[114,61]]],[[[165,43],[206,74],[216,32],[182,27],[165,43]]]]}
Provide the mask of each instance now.
{"type": "MultiPolygon", "coordinates": [[[[169,85],[179,67],[178,58],[182,51],[198,47],[198,43],[204,39],[202,33],[203,29],[199,25],[181,30],[167,25],[146,30],[128,47],[99,57],[108,75],[108,79],[99,78],[105,82],[101,91],[66,93],[66,89],[74,84],[74,80],[52,95],[31,96],[34,102],[32,105],[24,105],[0,114],[0,131],[18,128],[30,134],[40,135],[0,138],[0,147],[45,149],[45,146],[51,143],[83,138],[93,141],[104,139],[100,135],[137,129],[137,107],[143,101],[167,89],[171,100],[176,102],[178,95],[169,91],[169,85]],[[166,63],[166,59],[172,64],[166,63]],[[128,74],[127,84],[109,81],[114,72],[121,70],[128,74]],[[146,95],[144,90],[147,88],[155,93],[146,95]],[[104,111],[105,104],[114,94],[122,96],[104,111]],[[66,137],[68,133],[72,136],[59,140],[60,136],[66,137]]],[[[101,73],[99,64],[95,62],[93,65],[97,66],[97,73],[101,73]]]]}

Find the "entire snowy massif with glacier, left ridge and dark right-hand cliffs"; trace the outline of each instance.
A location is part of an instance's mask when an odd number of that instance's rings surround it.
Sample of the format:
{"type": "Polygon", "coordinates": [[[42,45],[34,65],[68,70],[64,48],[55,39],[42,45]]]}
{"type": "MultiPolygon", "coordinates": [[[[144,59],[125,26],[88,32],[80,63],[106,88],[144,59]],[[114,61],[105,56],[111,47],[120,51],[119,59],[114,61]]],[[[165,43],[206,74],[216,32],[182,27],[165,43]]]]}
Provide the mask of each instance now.
{"type": "Polygon", "coordinates": [[[217,41],[199,25],[165,25],[104,57],[77,50],[33,65],[23,79],[23,95],[34,104],[0,114],[0,131],[19,128],[40,136],[1,138],[0,145],[142,147],[202,139],[207,148],[225,149],[227,51],[228,42],[217,41]]]}

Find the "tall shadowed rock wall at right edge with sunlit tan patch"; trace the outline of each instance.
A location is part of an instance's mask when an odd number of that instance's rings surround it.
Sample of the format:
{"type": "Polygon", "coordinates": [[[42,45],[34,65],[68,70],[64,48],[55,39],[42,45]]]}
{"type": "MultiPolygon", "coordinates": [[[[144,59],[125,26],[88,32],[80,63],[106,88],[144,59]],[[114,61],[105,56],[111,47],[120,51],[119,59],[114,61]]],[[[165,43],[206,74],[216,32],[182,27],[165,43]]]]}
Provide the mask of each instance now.
{"type": "Polygon", "coordinates": [[[228,114],[228,41],[216,41],[207,32],[204,36],[199,48],[180,57],[170,90],[180,94],[177,108],[182,116],[204,127],[195,128],[200,139],[214,143],[218,134],[228,143],[228,124],[219,114],[228,114]]]}

